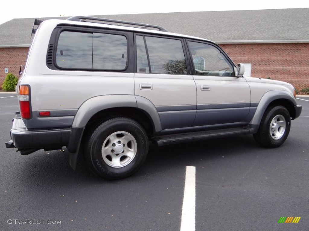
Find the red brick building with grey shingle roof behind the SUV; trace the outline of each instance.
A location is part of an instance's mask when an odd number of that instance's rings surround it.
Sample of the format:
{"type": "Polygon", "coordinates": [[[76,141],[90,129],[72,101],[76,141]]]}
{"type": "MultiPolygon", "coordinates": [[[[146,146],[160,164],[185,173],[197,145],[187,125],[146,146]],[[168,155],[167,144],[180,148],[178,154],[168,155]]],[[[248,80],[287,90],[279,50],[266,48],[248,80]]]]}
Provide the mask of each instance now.
{"type": "MultiPolygon", "coordinates": [[[[215,41],[246,75],[309,87],[309,8],[157,14],[99,15],[163,26],[170,32],[215,41]]],[[[66,19],[67,17],[57,17],[66,19]]],[[[46,20],[50,18],[39,18],[46,20]]],[[[0,86],[8,72],[18,75],[31,43],[33,18],[0,25],[0,86]]]]}

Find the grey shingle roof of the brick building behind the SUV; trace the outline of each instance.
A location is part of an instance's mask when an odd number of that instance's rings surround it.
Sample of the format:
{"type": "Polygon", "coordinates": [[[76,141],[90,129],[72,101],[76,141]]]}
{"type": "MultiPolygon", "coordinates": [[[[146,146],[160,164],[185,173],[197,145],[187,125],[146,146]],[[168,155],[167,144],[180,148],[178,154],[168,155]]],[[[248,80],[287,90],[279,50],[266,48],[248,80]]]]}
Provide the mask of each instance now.
{"type": "MultiPolygon", "coordinates": [[[[163,26],[170,32],[213,41],[305,40],[309,42],[309,8],[276,10],[203,11],[156,14],[96,15],[163,26]]],[[[66,19],[68,17],[54,17],[66,19]]],[[[52,18],[38,18],[47,20],[52,18]]],[[[30,44],[34,18],[13,19],[0,25],[0,46],[30,44]]]]}

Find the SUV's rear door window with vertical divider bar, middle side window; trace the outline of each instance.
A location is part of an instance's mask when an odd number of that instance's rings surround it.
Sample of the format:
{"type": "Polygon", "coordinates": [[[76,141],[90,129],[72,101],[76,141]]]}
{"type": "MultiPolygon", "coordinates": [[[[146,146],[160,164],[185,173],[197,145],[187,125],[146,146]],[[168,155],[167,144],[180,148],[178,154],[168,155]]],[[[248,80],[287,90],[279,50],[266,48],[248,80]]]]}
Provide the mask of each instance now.
{"type": "Polygon", "coordinates": [[[145,44],[143,38],[137,36],[137,72],[187,75],[181,40],[145,36],[145,44]]]}

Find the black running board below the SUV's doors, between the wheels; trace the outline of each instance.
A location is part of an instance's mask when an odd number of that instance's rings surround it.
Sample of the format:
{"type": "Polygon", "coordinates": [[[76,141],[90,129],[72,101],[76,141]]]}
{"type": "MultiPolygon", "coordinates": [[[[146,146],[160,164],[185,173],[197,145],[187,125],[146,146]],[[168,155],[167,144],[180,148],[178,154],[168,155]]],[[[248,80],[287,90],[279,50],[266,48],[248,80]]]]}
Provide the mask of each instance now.
{"type": "Polygon", "coordinates": [[[243,135],[243,134],[249,134],[249,132],[250,130],[246,128],[224,128],[211,131],[188,132],[188,133],[156,136],[152,138],[152,141],[157,146],[163,146],[167,144],[177,144],[180,142],[205,140],[215,137],[243,135]]]}

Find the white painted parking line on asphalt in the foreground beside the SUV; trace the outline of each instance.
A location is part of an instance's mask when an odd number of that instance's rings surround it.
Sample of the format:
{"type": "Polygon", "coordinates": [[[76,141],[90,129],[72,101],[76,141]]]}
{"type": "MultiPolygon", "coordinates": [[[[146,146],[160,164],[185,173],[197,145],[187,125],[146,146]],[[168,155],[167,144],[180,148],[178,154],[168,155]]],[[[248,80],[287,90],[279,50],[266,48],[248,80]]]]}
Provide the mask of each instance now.
{"type": "Polygon", "coordinates": [[[186,167],[180,231],[195,230],[195,167],[186,167]]]}

